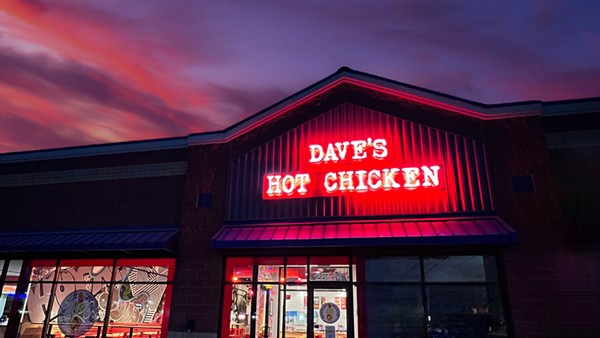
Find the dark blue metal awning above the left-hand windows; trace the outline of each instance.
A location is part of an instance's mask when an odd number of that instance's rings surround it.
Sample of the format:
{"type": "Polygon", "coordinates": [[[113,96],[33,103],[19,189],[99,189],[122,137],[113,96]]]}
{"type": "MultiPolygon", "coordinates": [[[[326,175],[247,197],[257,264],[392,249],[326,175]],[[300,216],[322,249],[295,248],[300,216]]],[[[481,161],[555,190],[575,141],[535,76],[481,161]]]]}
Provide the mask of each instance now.
{"type": "Polygon", "coordinates": [[[2,253],[171,251],[178,228],[3,233],[2,253]]]}

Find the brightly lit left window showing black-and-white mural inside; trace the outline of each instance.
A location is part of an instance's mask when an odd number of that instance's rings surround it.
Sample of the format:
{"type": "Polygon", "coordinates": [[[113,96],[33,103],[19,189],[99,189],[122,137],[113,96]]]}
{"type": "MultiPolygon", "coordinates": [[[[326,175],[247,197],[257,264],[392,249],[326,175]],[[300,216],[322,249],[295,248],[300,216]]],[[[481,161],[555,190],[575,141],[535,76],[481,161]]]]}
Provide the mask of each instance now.
{"type": "MultiPolygon", "coordinates": [[[[19,336],[148,333],[166,322],[173,259],[32,261],[19,336]]],[[[166,332],[166,331],[165,331],[166,332]]]]}

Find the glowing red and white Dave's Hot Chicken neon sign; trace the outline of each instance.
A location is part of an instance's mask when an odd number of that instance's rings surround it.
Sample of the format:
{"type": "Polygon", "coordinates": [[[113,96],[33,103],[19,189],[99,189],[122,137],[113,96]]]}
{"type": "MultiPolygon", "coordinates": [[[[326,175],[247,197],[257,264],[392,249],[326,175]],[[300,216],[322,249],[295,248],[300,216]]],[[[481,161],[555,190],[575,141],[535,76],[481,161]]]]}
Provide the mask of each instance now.
{"type": "MultiPolygon", "coordinates": [[[[263,199],[416,190],[440,186],[439,165],[387,165],[383,138],[308,145],[310,171],[264,176],[263,199]]],[[[389,161],[387,161],[389,162],[389,161]]]]}

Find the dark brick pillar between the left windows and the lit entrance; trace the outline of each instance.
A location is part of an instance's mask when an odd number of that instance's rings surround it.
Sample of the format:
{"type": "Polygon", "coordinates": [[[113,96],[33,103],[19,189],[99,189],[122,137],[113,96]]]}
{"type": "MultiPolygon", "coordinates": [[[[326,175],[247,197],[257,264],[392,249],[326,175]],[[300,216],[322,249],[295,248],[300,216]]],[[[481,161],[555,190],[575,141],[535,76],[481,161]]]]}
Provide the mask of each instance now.
{"type": "Polygon", "coordinates": [[[190,148],[169,331],[193,320],[196,331],[217,332],[223,260],[210,239],[223,226],[228,160],[227,144],[190,148]],[[212,207],[197,206],[201,192],[212,193],[212,207]]]}

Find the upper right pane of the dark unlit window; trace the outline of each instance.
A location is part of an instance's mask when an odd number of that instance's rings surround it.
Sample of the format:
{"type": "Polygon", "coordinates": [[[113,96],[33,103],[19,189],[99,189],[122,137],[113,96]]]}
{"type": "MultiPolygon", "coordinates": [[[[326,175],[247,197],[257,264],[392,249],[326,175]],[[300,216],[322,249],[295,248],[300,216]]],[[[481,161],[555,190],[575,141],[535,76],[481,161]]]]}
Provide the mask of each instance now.
{"type": "MultiPolygon", "coordinates": [[[[493,260],[490,260],[493,265],[493,260]]],[[[426,257],[423,260],[426,282],[486,282],[495,280],[495,265],[488,268],[483,256],[426,257]]]]}

